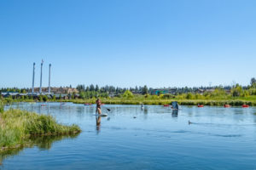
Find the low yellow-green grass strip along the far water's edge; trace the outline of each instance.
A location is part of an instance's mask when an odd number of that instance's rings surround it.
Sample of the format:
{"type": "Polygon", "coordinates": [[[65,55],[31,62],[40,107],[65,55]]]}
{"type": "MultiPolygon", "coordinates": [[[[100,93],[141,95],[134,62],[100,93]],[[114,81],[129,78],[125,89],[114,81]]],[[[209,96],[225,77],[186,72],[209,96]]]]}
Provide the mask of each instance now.
{"type": "MultiPolygon", "coordinates": [[[[130,94],[130,92],[127,92],[130,94]]],[[[241,106],[250,105],[256,106],[256,95],[248,95],[245,97],[233,97],[231,95],[223,96],[204,96],[201,94],[181,94],[181,95],[150,95],[150,94],[135,94],[128,97],[114,97],[114,98],[102,98],[102,103],[107,105],[170,105],[173,101],[177,101],[178,105],[231,105],[241,106]]],[[[4,99],[3,99],[4,100],[4,99]]],[[[34,99],[8,99],[5,100],[6,105],[10,105],[12,102],[72,102],[74,104],[95,104],[96,97],[90,99],[47,99],[47,100],[34,100],[34,99]]]]}

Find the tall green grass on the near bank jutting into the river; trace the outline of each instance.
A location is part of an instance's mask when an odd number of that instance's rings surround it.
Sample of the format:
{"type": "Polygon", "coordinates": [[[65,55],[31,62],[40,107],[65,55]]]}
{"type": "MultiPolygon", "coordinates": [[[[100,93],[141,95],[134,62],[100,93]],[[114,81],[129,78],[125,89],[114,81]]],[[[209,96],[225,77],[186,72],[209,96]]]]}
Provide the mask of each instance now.
{"type": "Polygon", "coordinates": [[[77,125],[61,125],[52,116],[12,109],[3,111],[0,113],[0,152],[24,146],[32,136],[66,135],[80,131],[77,125]]]}

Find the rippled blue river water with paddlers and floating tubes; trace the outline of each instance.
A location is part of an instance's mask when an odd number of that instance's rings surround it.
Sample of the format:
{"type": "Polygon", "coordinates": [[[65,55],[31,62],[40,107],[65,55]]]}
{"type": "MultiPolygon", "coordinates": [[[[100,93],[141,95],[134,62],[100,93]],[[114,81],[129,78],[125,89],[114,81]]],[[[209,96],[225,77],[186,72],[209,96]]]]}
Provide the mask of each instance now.
{"type": "Polygon", "coordinates": [[[83,132],[38,139],[6,156],[0,169],[256,169],[256,108],[183,106],[176,114],[160,105],[105,105],[111,111],[103,107],[108,117],[96,126],[95,106],[12,107],[76,123],[83,132]]]}

